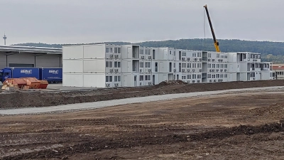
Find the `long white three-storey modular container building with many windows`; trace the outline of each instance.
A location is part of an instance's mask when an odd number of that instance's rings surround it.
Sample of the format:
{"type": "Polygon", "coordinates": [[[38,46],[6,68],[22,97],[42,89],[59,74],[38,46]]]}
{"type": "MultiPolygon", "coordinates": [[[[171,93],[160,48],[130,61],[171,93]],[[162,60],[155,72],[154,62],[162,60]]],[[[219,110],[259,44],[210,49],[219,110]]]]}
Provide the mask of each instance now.
{"type": "Polygon", "coordinates": [[[189,83],[272,80],[260,53],[216,53],[137,45],[62,47],[63,86],[135,87],[165,80],[189,83]]]}

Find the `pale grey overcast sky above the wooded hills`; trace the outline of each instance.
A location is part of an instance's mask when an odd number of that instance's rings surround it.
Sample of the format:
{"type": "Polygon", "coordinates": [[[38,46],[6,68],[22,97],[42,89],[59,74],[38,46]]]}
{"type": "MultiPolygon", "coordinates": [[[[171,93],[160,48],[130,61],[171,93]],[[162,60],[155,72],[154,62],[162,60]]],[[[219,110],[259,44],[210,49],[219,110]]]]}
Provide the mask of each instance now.
{"type": "MultiPolygon", "coordinates": [[[[6,32],[7,45],[204,38],[204,4],[217,39],[284,41],[284,0],[0,2],[0,36],[6,32]]],[[[205,24],[206,37],[212,38],[207,19],[205,24]]]]}

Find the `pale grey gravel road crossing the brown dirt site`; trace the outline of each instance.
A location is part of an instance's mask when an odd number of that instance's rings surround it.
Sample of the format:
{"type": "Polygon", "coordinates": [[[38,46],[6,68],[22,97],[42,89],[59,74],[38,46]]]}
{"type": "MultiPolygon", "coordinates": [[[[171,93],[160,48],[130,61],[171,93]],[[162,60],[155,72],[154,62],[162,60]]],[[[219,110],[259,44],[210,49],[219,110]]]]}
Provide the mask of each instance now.
{"type": "Polygon", "coordinates": [[[160,100],[172,100],[176,98],[183,97],[196,97],[196,96],[206,96],[206,95],[216,95],[226,92],[241,92],[241,91],[257,91],[257,90],[278,90],[284,89],[284,86],[278,87],[254,87],[254,88],[244,88],[244,89],[232,89],[232,90],[218,90],[218,91],[208,91],[208,92],[190,92],[190,93],[179,93],[170,95],[153,95],[148,97],[133,97],[121,100],[108,100],[100,102],[88,102],[72,105],[58,105],[53,107],[30,107],[21,109],[10,109],[10,110],[0,110],[1,115],[13,115],[13,114],[43,114],[43,113],[53,113],[53,112],[72,112],[79,110],[91,110],[101,107],[110,107],[115,105],[126,105],[139,102],[153,102],[160,100]]]}

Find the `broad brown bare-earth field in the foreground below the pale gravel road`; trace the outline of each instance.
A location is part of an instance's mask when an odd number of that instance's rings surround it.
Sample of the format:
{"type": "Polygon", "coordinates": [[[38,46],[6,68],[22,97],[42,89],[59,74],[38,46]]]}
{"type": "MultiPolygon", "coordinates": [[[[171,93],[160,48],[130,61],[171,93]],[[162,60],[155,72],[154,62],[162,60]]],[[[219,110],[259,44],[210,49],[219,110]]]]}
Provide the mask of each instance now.
{"type": "Polygon", "coordinates": [[[284,92],[0,117],[0,159],[284,159],[284,92]]]}

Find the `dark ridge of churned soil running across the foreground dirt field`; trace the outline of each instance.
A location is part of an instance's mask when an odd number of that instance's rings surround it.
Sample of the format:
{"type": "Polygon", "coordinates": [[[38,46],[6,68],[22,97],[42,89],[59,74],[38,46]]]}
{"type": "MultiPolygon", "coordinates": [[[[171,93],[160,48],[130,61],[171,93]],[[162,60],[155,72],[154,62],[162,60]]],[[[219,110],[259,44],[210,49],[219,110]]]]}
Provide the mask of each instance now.
{"type": "MultiPolygon", "coordinates": [[[[42,150],[31,150],[28,153],[18,155],[3,156],[1,159],[35,159],[35,158],[62,158],[65,155],[77,153],[87,153],[89,151],[100,151],[103,149],[130,148],[135,146],[147,146],[155,144],[175,144],[180,142],[203,142],[208,139],[226,139],[237,135],[253,135],[284,131],[284,120],[277,123],[263,124],[258,126],[240,125],[237,127],[208,129],[207,132],[199,132],[195,134],[173,134],[173,132],[164,132],[161,135],[142,134],[139,137],[131,135],[124,138],[94,138],[84,137],[74,145],[64,146],[60,143],[50,148],[43,147],[42,150]],[[61,146],[60,146],[61,145],[61,146]]],[[[147,132],[146,132],[147,133],[147,132]]],[[[66,135],[65,135],[66,136],[66,135]]],[[[64,137],[65,137],[64,136],[64,137]]],[[[75,135],[76,136],[76,135],[75,135]]],[[[261,139],[260,139],[261,140],[261,139]]],[[[1,151],[1,150],[0,150],[1,151]]]]}

